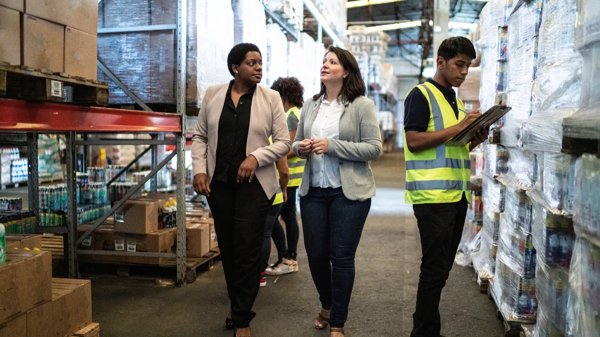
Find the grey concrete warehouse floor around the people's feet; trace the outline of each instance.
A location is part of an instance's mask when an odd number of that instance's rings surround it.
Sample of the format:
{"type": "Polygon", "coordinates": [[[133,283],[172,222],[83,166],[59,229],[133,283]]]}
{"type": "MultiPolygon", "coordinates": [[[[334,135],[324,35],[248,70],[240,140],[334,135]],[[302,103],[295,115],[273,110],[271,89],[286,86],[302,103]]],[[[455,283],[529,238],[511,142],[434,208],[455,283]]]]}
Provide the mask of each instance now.
{"type": "MultiPolygon", "coordinates": [[[[421,248],[412,207],[403,203],[403,164],[400,154],[373,163],[377,197],[356,255],[347,336],[408,337],[412,329],[421,248]]],[[[270,276],[260,289],[253,336],[329,336],[313,327],[319,302],[300,241],[299,272],[270,276]]],[[[494,304],[473,277],[472,269],[454,266],[440,304],[442,333],[502,336],[494,304]]],[[[220,263],[184,288],[160,287],[154,279],[94,277],[92,305],[103,337],[232,335],[224,329],[229,303],[220,263]]]]}

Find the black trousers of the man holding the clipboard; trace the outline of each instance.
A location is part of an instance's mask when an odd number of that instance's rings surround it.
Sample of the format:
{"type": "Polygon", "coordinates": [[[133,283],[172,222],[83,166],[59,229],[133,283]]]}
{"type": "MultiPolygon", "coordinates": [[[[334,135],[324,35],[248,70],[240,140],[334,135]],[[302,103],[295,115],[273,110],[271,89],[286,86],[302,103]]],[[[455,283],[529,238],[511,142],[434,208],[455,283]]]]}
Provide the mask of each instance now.
{"type": "Polygon", "coordinates": [[[463,234],[467,204],[463,194],[455,203],[413,205],[423,257],[411,337],[440,336],[440,296],[463,234]]]}

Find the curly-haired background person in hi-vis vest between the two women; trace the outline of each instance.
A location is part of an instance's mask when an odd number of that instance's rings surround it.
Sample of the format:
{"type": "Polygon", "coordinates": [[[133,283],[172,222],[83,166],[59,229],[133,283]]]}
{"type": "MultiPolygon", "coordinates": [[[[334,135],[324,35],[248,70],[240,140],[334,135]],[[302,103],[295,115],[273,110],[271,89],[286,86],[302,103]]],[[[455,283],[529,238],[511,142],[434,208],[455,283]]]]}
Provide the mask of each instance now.
{"type": "MultiPolygon", "coordinates": [[[[281,95],[281,101],[283,101],[283,107],[286,110],[287,130],[290,133],[290,140],[293,142],[296,137],[296,130],[298,130],[300,108],[304,105],[304,101],[302,101],[304,88],[296,77],[279,77],[273,82],[271,89],[281,95]]],[[[276,219],[271,236],[277,248],[278,258],[275,264],[266,269],[267,275],[282,275],[298,271],[298,261],[296,261],[296,255],[298,254],[296,250],[298,249],[300,227],[298,225],[298,215],[296,215],[296,191],[302,183],[305,163],[306,160],[296,157],[293,151],[287,154],[290,181],[287,184],[287,201],[281,210],[281,218],[286,223],[286,230],[283,230],[279,219],[276,219]]]]}

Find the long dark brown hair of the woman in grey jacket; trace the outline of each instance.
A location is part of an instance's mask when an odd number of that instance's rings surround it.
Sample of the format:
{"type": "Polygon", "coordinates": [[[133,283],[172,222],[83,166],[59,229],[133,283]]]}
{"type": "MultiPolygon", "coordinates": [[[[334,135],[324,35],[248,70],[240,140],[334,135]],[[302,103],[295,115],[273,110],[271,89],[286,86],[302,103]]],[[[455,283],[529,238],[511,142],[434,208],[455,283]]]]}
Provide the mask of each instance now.
{"type": "MultiPolygon", "coordinates": [[[[367,92],[367,88],[365,87],[365,82],[362,80],[361,69],[358,67],[358,62],[356,62],[354,55],[346,49],[334,46],[329,46],[323,57],[327,56],[328,53],[335,53],[344,70],[348,72],[348,76],[343,79],[340,97],[337,98],[338,102],[350,103],[356,97],[364,95],[367,92]]],[[[319,100],[319,98],[325,95],[325,92],[325,85],[321,82],[321,91],[319,94],[313,96],[313,101],[319,100]]]]}

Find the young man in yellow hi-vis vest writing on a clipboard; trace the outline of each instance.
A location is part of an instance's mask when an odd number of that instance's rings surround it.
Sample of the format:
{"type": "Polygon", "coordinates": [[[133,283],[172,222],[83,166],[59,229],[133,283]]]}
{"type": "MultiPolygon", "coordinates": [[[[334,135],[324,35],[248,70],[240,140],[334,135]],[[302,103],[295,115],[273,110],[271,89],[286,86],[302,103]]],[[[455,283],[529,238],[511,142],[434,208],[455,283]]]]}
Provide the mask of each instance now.
{"type": "Polygon", "coordinates": [[[452,89],[463,84],[475,56],[467,38],[444,40],[433,80],[415,86],[404,100],[405,198],[413,204],[423,255],[411,337],[441,336],[440,296],[471,201],[469,151],[488,137],[488,130],[479,130],[469,145],[445,145],[481,116],[467,113],[452,89]]]}

